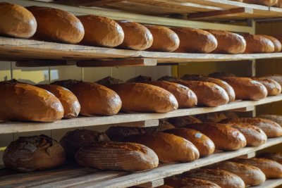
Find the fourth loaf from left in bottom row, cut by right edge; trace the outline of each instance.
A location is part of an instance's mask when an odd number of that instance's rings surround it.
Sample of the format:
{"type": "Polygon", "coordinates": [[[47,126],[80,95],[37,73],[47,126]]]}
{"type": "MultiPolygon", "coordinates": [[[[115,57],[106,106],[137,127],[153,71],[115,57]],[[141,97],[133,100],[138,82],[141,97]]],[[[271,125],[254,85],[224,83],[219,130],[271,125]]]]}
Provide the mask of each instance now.
{"type": "Polygon", "coordinates": [[[233,161],[247,165],[253,165],[264,173],[266,179],[281,178],[282,165],[267,158],[234,158],[233,161]]]}

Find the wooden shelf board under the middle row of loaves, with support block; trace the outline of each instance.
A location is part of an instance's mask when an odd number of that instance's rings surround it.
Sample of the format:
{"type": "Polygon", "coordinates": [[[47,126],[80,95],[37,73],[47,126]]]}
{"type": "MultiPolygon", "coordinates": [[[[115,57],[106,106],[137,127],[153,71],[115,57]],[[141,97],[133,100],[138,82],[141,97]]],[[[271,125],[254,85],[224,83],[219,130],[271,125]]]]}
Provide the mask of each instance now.
{"type": "Polygon", "coordinates": [[[69,120],[59,120],[54,123],[30,123],[30,122],[13,122],[13,123],[0,123],[0,134],[13,133],[13,132],[30,132],[37,130],[56,130],[72,127],[87,127],[94,125],[125,125],[135,127],[149,127],[156,126],[156,120],[163,118],[172,118],[185,115],[196,115],[202,113],[212,113],[217,111],[228,111],[239,109],[245,111],[252,109],[250,107],[261,104],[269,104],[276,101],[282,101],[282,95],[269,96],[266,99],[259,101],[235,101],[230,104],[217,107],[196,107],[187,109],[178,109],[169,113],[121,113],[113,116],[103,117],[79,117],[69,120]],[[248,107],[248,108],[246,108],[248,107]],[[135,123],[141,122],[141,123],[135,123]],[[125,124],[126,123],[126,124],[125,124]]]}

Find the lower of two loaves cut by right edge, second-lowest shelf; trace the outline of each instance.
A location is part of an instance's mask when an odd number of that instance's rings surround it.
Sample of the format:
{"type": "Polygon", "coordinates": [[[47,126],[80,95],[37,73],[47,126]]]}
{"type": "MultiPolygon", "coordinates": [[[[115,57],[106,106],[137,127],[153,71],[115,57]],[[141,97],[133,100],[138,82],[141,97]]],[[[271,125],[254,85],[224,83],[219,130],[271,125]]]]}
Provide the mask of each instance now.
{"type": "Polygon", "coordinates": [[[259,127],[268,138],[282,136],[282,128],[278,123],[262,118],[235,118],[223,120],[222,123],[246,123],[259,127]]]}

